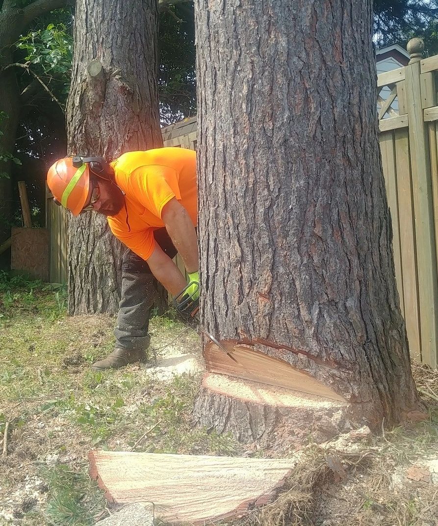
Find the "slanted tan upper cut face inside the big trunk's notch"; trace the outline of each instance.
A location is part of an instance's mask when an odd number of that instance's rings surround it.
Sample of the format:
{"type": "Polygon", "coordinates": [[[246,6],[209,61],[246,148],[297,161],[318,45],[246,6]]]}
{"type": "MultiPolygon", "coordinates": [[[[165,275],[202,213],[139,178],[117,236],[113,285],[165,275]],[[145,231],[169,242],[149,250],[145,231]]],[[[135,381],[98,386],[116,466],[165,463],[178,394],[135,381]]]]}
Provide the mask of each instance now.
{"type": "Polygon", "coordinates": [[[238,363],[228,357],[215,343],[208,343],[204,350],[207,371],[253,380],[271,386],[294,389],[332,400],[346,401],[330,387],[283,360],[266,356],[247,345],[222,343],[238,363]]]}

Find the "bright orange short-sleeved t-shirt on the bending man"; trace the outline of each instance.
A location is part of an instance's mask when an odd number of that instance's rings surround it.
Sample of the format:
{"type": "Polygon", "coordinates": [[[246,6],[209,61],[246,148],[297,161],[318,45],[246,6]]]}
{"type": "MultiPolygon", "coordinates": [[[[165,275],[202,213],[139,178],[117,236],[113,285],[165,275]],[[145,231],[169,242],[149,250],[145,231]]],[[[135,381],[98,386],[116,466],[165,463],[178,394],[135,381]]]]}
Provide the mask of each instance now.
{"type": "Polygon", "coordinates": [[[130,151],[111,163],[126,209],[108,217],[113,234],[135,254],[148,259],[154,230],[163,228],[163,207],[174,197],[197,225],[196,153],[185,148],[130,151]],[[126,213],[127,210],[127,213],[126,213]]]}

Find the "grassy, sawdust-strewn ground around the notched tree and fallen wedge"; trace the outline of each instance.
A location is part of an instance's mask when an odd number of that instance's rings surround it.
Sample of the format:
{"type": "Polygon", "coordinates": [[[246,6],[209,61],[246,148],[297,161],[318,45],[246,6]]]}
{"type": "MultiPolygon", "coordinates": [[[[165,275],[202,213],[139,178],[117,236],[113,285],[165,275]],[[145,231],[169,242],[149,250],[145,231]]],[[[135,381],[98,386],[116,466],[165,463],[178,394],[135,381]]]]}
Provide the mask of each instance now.
{"type": "MultiPolygon", "coordinates": [[[[0,525],[85,526],[106,517],[112,510],[87,474],[91,448],[272,456],[192,426],[203,367],[196,333],[154,318],[157,362],[151,349],[147,363],[94,372],[91,363],[114,345],[113,328],[105,316],[67,318],[62,289],[0,281],[0,525]]],[[[240,522],[435,526],[438,374],[413,371],[426,415],[379,436],[365,430],[323,446],[309,437],[288,491],[240,522]]]]}

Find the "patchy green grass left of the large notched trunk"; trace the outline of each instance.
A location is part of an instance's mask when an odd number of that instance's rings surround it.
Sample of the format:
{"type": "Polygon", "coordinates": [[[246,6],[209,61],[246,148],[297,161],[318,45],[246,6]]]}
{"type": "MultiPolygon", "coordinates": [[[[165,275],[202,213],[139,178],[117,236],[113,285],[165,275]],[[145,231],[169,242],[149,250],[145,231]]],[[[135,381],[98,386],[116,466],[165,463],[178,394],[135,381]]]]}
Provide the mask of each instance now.
{"type": "MultiPolygon", "coordinates": [[[[106,316],[68,318],[64,288],[0,274],[0,433],[6,421],[10,430],[8,464],[0,469],[0,502],[25,476],[39,477],[49,488],[41,507],[18,510],[24,526],[94,523],[104,500],[86,472],[93,447],[222,455],[241,451],[231,436],[192,427],[198,377],[185,374],[164,382],[138,366],[91,370],[91,363],[114,346],[114,323],[106,316]],[[61,465],[46,468],[49,454],[56,454],[61,465]]],[[[152,345],[160,349],[183,330],[172,316],[156,317],[152,345]]],[[[191,352],[196,339],[189,331],[177,341],[191,352]]]]}

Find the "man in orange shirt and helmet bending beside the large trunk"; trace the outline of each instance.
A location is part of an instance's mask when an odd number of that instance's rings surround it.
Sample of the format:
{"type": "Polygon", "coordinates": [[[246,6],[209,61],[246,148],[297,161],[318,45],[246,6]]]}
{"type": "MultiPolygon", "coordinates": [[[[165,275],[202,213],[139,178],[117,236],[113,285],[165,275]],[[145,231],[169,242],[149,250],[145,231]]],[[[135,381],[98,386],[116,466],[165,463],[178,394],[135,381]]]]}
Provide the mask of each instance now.
{"type": "Polygon", "coordinates": [[[172,258],[179,252],[189,276],[187,294],[199,296],[196,154],[184,148],[132,151],[112,163],[101,157],[66,157],[47,173],[54,199],[77,216],[94,210],[107,217],[127,247],[116,346],[96,370],[144,359],[155,277],[172,294],[187,286],[172,258]]]}

